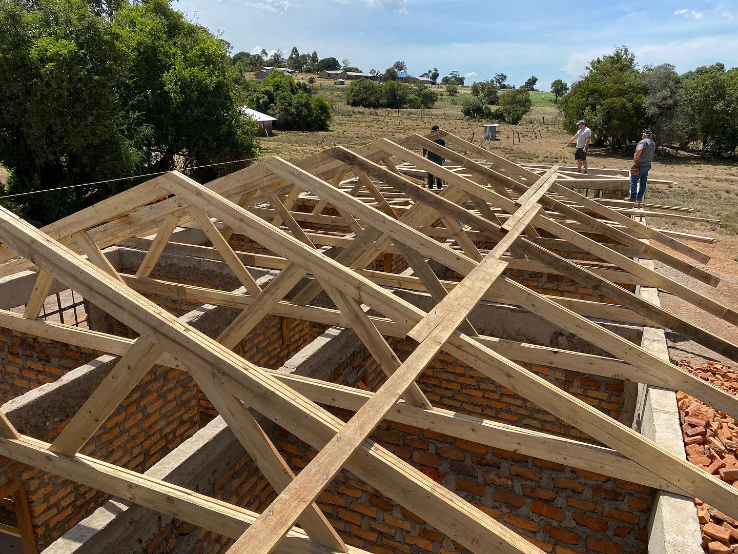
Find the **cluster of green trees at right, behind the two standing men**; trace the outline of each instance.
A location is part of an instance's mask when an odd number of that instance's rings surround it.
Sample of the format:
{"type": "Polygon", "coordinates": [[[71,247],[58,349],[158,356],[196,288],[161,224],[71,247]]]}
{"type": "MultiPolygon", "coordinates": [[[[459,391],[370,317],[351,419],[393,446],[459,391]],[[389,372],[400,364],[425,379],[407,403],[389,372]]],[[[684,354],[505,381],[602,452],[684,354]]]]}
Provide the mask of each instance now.
{"type": "Polygon", "coordinates": [[[738,148],[738,67],[717,62],[681,75],[672,64],[638,68],[635,54],[618,47],[596,58],[559,100],[564,127],[585,120],[593,144],[616,151],[654,131],[660,146],[735,155],[738,148]]]}

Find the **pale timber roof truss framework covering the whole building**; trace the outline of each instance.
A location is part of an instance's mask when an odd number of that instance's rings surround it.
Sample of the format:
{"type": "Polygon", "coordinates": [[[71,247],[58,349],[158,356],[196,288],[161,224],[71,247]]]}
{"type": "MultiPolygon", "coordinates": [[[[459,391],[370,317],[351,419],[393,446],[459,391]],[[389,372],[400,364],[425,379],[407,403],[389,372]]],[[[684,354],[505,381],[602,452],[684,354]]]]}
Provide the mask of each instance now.
{"type": "Polygon", "coordinates": [[[379,140],[356,151],[328,148],[294,164],[273,157],[207,185],[174,171],[42,230],[1,210],[0,261],[7,263],[0,266],[0,275],[35,268],[38,277],[24,313],[0,311],[0,325],[100,349],[120,355],[120,360],[51,444],[19,434],[0,417],[0,454],[237,538],[234,553],[362,552],[342,541],[314,503],[341,468],[348,468],[472,552],[539,552],[373,442],[370,435],[384,419],[696,496],[738,517],[738,490],[518,363],[541,363],[679,389],[726,414],[738,415],[736,397],[590,319],[669,327],[738,360],[736,345],[620,285],[658,287],[738,324],[734,310],[634,259],[656,259],[715,286],[718,279],[698,265],[706,263],[708,256],[631,219],[627,208],[622,211],[612,202],[577,194],[571,188],[576,184],[576,179],[557,166],[524,168],[437,131],[398,141],[379,140]],[[438,137],[469,157],[433,142],[438,137]],[[421,148],[435,151],[458,167],[431,163],[418,154],[421,148]],[[439,194],[418,187],[408,168],[432,171],[448,186],[439,194]],[[348,172],[356,177],[345,181],[348,172]],[[301,194],[316,199],[312,213],[292,211],[301,194]],[[152,203],[162,196],[168,198],[152,203]],[[335,208],[338,215],[323,215],[326,207],[335,208]],[[301,221],[340,222],[353,233],[345,237],[311,233],[303,230],[301,221]],[[186,225],[201,228],[212,247],[170,242],[173,230],[186,225]],[[614,243],[596,242],[584,232],[602,234],[614,243]],[[277,256],[235,253],[227,240],[232,233],[249,236],[277,256]],[[142,236],[154,238],[136,238],[142,236]],[[481,238],[494,243],[492,250],[482,253],[477,249],[474,241],[481,238]],[[118,273],[101,252],[124,239],[148,250],[134,275],[118,273]],[[696,263],[666,253],[661,245],[696,263]],[[566,247],[593,253],[615,269],[588,269],[554,252],[566,247]],[[244,290],[229,293],[152,279],[151,271],[165,249],[226,261],[244,290]],[[399,253],[413,274],[366,269],[387,252],[399,253]],[[428,260],[449,267],[463,279],[439,280],[428,260]],[[272,267],[280,273],[261,288],[249,273],[249,265],[272,267]],[[619,304],[540,295],[502,276],[508,267],[559,273],[619,304]],[[313,279],[286,300],[306,275],[313,279]],[[38,321],[54,279],[130,326],[139,338],[38,321]],[[435,306],[424,312],[394,295],[391,287],[427,291],[435,306]],[[323,290],[336,309],[311,305],[323,290]],[[242,311],[213,340],[139,294],[147,292],[242,311]],[[480,300],[535,312],[614,358],[480,335],[467,319],[480,300]],[[380,315],[368,315],[368,308],[380,315]],[[270,313],[351,327],[387,374],[386,382],[379,391],[360,391],[263,369],[235,355],[232,349],[270,313]],[[410,337],[418,347],[402,362],[385,336],[410,337]],[[440,350],[607,447],[433,408],[415,380],[440,350]],[[193,375],[277,490],[277,499],[261,515],[79,454],[155,363],[186,369],[193,375]],[[299,475],[294,475],[244,403],[319,451],[299,475]],[[356,413],[343,423],[318,403],[356,413]]]}

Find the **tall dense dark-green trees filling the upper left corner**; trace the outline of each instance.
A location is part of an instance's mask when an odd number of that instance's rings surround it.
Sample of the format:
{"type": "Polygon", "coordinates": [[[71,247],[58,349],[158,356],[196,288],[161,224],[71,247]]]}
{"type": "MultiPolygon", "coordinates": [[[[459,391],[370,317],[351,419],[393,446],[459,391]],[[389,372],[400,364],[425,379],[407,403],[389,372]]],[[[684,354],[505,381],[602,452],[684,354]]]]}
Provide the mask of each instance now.
{"type": "MultiPolygon", "coordinates": [[[[168,1],[0,1],[7,194],[252,157],[227,45],[168,1]]],[[[233,171],[190,173],[199,179],[233,171]]],[[[18,196],[47,223],[136,184],[18,196]]]]}

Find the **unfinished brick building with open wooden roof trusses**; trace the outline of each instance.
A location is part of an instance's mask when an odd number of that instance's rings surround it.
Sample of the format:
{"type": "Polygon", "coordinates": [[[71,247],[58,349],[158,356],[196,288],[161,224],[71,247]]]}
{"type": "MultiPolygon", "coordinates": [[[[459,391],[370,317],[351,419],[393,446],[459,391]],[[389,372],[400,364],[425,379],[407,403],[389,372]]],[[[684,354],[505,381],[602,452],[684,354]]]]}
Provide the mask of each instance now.
{"type": "Polygon", "coordinates": [[[686,461],[674,391],[738,400],[663,329],[738,348],[658,289],[738,317],[653,270],[718,282],[599,173],[438,131],[42,230],[2,211],[5,527],[54,554],[700,552],[694,498],[738,517],[738,490],[686,461]],[[89,329],[39,318],[68,289],[89,329]]]}

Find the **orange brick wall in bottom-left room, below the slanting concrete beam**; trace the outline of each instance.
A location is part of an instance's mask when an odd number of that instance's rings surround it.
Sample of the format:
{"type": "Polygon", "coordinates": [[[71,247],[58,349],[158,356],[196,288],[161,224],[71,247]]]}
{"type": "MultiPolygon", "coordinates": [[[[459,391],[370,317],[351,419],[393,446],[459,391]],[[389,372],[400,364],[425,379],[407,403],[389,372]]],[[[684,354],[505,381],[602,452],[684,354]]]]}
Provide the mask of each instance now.
{"type": "MultiPolygon", "coordinates": [[[[113,365],[111,361],[104,370],[97,370],[95,383],[101,381],[113,365]]],[[[81,453],[134,471],[146,471],[196,431],[195,389],[194,381],[186,372],[154,366],[81,453]]],[[[69,423],[71,414],[86,400],[86,395],[73,395],[67,389],[53,394],[63,395],[57,400],[59,406],[66,404],[66,416],[61,423],[52,413],[46,414],[46,421],[24,421],[22,410],[11,411],[10,421],[21,433],[52,442],[69,423]]],[[[109,498],[97,490],[1,456],[0,471],[7,479],[24,482],[39,550],[109,498]]]]}

